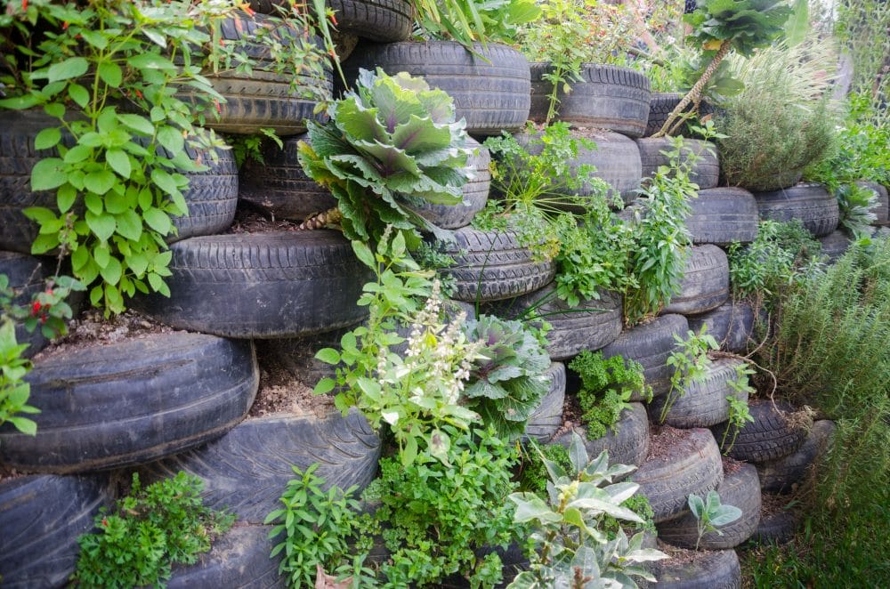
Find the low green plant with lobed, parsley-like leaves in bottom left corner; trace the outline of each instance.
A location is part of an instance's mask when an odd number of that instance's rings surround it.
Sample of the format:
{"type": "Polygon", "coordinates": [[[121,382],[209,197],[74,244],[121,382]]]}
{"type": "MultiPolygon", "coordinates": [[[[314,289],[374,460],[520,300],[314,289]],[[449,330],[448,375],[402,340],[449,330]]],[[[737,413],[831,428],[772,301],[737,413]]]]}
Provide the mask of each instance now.
{"type": "Polygon", "coordinates": [[[134,472],[130,494],[96,516],[99,531],[77,539],[80,556],[71,579],[91,587],[164,585],[173,564],[197,562],[235,519],[204,506],[203,486],[179,472],[142,488],[134,472]]]}

